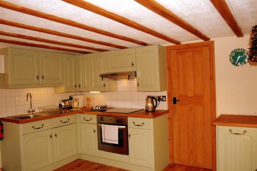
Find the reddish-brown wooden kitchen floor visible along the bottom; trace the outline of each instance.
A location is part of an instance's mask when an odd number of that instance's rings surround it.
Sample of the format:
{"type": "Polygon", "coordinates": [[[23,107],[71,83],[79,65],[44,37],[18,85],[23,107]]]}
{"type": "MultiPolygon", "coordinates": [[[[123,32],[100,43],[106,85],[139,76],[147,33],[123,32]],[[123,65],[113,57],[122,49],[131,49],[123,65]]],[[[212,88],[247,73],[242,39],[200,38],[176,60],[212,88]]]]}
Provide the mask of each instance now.
{"type": "MultiPolygon", "coordinates": [[[[59,167],[53,171],[127,171],[122,168],[107,166],[104,164],[94,163],[87,160],[77,159],[73,162],[70,162],[62,167],[59,167]]],[[[184,166],[179,164],[169,164],[163,171],[209,171],[210,169],[197,168],[184,166]]]]}

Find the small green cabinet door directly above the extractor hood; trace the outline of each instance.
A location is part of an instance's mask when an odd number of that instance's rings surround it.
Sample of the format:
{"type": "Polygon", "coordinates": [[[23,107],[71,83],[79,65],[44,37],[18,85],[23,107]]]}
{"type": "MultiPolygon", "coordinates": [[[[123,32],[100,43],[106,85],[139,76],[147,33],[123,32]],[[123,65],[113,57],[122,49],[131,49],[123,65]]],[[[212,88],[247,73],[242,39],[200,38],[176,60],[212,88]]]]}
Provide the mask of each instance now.
{"type": "Polygon", "coordinates": [[[136,71],[135,48],[106,52],[107,73],[136,71]]]}

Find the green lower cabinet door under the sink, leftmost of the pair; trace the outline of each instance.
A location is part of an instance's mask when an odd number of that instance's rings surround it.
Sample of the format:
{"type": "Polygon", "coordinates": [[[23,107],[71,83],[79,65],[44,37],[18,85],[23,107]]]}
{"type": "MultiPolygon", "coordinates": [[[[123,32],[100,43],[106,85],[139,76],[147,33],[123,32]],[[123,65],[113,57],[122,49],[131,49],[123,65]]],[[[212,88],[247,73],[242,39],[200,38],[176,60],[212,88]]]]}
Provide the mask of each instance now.
{"type": "Polygon", "coordinates": [[[51,130],[45,130],[22,136],[24,170],[36,170],[53,163],[51,134],[51,130]]]}

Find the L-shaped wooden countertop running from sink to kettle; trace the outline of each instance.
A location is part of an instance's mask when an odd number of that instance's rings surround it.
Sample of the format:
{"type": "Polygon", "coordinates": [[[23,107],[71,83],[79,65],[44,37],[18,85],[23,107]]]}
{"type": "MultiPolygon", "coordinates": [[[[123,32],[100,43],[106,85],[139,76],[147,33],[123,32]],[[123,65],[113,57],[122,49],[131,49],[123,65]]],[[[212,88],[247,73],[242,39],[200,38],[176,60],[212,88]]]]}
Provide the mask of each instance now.
{"type": "Polygon", "coordinates": [[[23,120],[3,117],[3,118],[0,118],[0,121],[13,122],[13,123],[28,123],[28,122],[34,122],[34,121],[43,120],[43,119],[51,119],[51,118],[56,118],[56,117],[61,117],[61,116],[78,114],[78,113],[80,113],[80,114],[93,114],[93,115],[135,117],[135,118],[156,118],[158,116],[169,113],[168,110],[156,110],[155,112],[145,112],[145,110],[141,110],[141,111],[133,112],[133,113],[130,113],[130,114],[95,112],[95,111],[86,111],[86,110],[90,110],[90,108],[81,108],[80,110],[77,110],[77,111],[70,110],[70,111],[68,111],[66,113],[62,113],[62,114],[39,116],[39,117],[35,117],[35,118],[31,118],[31,119],[23,119],[23,120]]]}

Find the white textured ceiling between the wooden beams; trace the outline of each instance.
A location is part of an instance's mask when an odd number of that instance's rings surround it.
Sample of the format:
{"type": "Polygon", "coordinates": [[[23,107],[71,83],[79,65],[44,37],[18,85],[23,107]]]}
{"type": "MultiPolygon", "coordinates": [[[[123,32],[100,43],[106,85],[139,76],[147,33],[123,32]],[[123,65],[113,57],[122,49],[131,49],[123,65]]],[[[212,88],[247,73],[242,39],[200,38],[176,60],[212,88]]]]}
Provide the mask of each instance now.
{"type": "MultiPolygon", "coordinates": [[[[122,25],[114,20],[108,19],[101,15],[95,14],[93,12],[84,10],[82,8],[70,5],[60,0],[6,0],[16,5],[21,5],[33,10],[38,10],[44,13],[56,15],[59,17],[74,20],[75,22],[102,29],[108,32],[112,32],[121,36],[130,37],[136,40],[146,42],[147,44],[169,44],[170,42],[162,40],[150,34],[138,31],[136,29],[130,28],[128,26],[122,25]]],[[[187,42],[192,40],[198,40],[199,38],[189,33],[188,31],[180,28],[179,26],[169,22],[169,20],[159,16],[158,14],[152,12],[151,10],[143,7],[133,0],[87,0],[87,2],[104,8],[108,11],[114,12],[125,18],[131,19],[140,25],[146,26],[152,30],[159,33],[174,38],[181,42],[187,42]]],[[[212,3],[209,0],[157,0],[158,3],[186,20],[187,23],[198,29],[203,34],[210,38],[215,37],[227,37],[235,36],[230,27],[227,25],[222,16],[217,12],[212,3]]],[[[231,12],[233,13],[238,25],[244,32],[244,34],[249,34],[250,28],[257,24],[257,3],[256,0],[226,0],[231,12]]],[[[82,30],[76,27],[67,26],[64,24],[52,22],[47,19],[23,14],[20,12],[15,12],[9,9],[0,7],[0,18],[11,20],[17,23],[23,23],[26,25],[47,28],[51,30],[56,30],[59,32],[64,32],[72,35],[78,35],[81,37],[86,37],[90,39],[100,40],[109,42],[112,44],[125,46],[125,47],[139,47],[140,45],[133,44],[132,42],[120,40],[117,38],[112,38],[97,34],[94,32],[82,30]]],[[[41,37],[51,40],[58,40],[63,42],[69,42],[72,44],[90,46],[94,48],[102,48],[107,50],[115,50],[115,48],[102,46],[98,44],[93,44],[90,42],[85,42],[81,40],[55,36],[46,33],[40,33],[36,31],[30,31],[26,29],[0,25],[1,31],[19,33],[34,37],[41,37]]],[[[32,41],[21,38],[14,38],[9,36],[0,35],[0,38],[19,40],[25,42],[32,42],[34,44],[49,45],[55,47],[62,47],[68,49],[84,50],[89,52],[96,52],[87,49],[66,47],[48,44],[44,42],[32,41]]],[[[16,45],[9,45],[0,42],[1,46],[12,46],[12,47],[22,47],[16,45]]],[[[39,48],[33,48],[39,49],[39,48]]]]}

